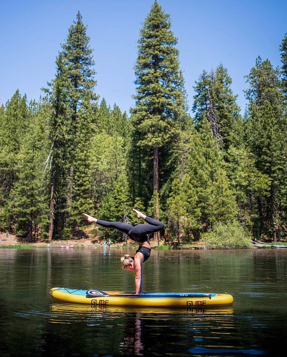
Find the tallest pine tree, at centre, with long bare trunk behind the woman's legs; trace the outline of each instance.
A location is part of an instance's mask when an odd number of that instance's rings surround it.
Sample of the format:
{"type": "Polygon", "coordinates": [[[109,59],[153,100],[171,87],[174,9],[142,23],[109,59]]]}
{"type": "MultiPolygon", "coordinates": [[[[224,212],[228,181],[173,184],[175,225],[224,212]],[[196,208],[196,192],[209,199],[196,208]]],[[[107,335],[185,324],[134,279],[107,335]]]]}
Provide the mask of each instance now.
{"type": "MultiPolygon", "coordinates": [[[[132,185],[134,197],[141,197],[146,204],[166,179],[163,167],[176,148],[186,118],[177,39],[170,28],[170,16],[155,1],[140,30],[135,65],[136,103],[131,110],[132,185]],[[148,191],[144,192],[144,188],[148,191]]],[[[155,218],[159,218],[158,203],[155,218]]]]}

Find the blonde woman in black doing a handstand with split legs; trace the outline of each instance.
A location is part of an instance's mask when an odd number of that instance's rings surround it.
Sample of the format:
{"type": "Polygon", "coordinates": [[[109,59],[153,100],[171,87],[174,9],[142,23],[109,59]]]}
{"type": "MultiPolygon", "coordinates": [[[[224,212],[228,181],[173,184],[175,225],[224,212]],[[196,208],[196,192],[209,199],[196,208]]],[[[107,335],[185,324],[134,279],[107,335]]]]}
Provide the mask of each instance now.
{"type": "Polygon", "coordinates": [[[157,221],[151,217],[148,217],[141,213],[138,210],[133,209],[136,213],[137,218],[145,220],[148,224],[139,224],[136,226],[132,226],[130,224],[124,222],[108,222],[101,221],[97,218],[87,215],[86,213],[82,213],[82,216],[89,223],[97,223],[98,225],[105,228],[115,228],[121,232],[126,233],[129,238],[133,241],[139,243],[139,248],[136,251],[134,257],[131,257],[129,254],[125,254],[121,257],[122,268],[128,271],[135,271],[136,278],[136,292],[135,295],[139,295],[142,293],[142,263],[148,260],[151,253],[150,241],[148,240],[148,234],[155,233],[160,231],[164,225],[160,221],[157,221]]]}

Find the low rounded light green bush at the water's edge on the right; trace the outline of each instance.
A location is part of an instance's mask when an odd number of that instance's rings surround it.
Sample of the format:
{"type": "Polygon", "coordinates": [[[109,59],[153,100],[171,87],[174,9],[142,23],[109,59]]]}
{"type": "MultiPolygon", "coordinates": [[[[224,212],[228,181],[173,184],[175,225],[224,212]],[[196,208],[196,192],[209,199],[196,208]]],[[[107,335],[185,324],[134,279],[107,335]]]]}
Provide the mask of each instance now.
{"type": "Polygon", "coordinates": [[[251,248],[250,239],[238,221],[217,222],[202,236],[212,249],[251,248]]]}

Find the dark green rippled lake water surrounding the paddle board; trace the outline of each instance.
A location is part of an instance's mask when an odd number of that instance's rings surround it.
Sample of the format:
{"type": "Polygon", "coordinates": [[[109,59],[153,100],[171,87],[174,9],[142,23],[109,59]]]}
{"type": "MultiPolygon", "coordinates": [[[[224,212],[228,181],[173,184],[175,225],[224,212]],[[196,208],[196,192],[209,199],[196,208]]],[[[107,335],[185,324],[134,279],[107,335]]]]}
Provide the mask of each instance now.
{"type": "Polygon", "coordinates": [[[227,292],[212,309],[53,302],[51,287],[134,291],[128,248],[0,249],[0,356],[285,356],[287,249],[152,250],[146,292],[227,292]]]}

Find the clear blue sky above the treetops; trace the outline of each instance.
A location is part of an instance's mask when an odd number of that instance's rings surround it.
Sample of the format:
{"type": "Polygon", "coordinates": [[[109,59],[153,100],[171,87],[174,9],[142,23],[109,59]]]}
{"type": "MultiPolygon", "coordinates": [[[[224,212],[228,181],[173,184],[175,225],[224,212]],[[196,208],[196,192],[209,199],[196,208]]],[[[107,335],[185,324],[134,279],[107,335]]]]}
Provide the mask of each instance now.
{"type": "MultiPolygon", "coordinates": [[[[95,60],[95,91],[111,107],[134,106],[137,40],[153,0],[0,0],[0,102],[15,91],[39,100],[55,77],[55,60],[80,11],[95,60]]],[[[244,114],[245,75],[258,56],[282,65],[279,46],[287,33],[287,1],[158,0],[178,39],[187,99],[203,70],[222,64],[244,114]]],[[[191,113],[192,114],[192,113],[191,113]]]]}

